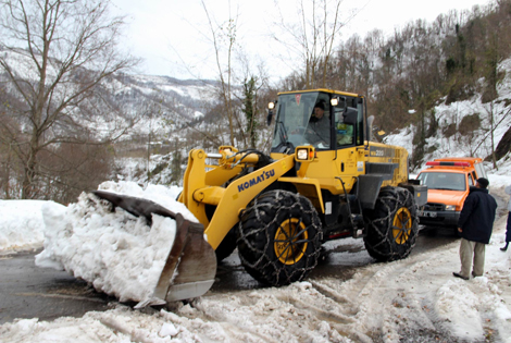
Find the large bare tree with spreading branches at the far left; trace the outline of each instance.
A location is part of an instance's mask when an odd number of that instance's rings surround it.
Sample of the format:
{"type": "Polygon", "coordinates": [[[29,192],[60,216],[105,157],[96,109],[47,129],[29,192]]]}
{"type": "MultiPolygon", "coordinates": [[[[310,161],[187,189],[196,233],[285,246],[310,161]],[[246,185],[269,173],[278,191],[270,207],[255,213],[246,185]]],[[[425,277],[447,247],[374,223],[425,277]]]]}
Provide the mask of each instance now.
{"type": "Polygon", "coordinates": [[[98,130],[100,143],[109,142],[133,124],[126,117],[119,122],[120,109],[105,91],[104,81],[137,63],[117,51],[125,23],[109,14],[109,0],[0,0],[0,81],[17,100],[0,113],[22,131],[2,120],[1,139],[23,164],[22,198],[40,197],[38,182],[54,174],[45,155],[62,144],[99,144],[98,130]]]}

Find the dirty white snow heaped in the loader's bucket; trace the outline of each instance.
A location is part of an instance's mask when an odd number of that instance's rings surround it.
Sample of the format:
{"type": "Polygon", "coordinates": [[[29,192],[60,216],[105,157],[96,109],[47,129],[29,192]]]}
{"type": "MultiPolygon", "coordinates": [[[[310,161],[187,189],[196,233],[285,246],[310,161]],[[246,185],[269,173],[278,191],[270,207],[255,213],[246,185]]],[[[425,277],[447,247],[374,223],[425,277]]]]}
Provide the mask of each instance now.
{"type": "MultiPolygon", "coordinates": [[[[150,186],[145,191],[132,182],[107,182],[100,189],[151,199],[170,210],[183,210],[176,188],[150,186]]],[[[183,213],[194,219],[187,210],[183,213]]],[[[42,207],[45,249],[36,256],[39,267],[65,269],[90,282],[98,291],[121,302],[151,298],[172,248],[175,220],[153,216],[148,226],[121,208],[83,193],[67,207],[49,203],[42,207]]]]}

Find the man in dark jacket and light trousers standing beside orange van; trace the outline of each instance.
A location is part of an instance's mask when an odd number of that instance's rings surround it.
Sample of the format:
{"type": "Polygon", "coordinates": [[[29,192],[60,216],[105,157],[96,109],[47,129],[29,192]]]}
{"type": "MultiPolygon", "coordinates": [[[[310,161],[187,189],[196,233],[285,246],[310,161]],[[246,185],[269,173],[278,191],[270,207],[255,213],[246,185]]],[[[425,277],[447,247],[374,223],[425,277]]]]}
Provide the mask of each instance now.
{"type": "Polygon", "coordinates": [[[488,184],[489,181],[485,177],[477,179],[475,187],[471,187],[463,203],[458,220],[458,231],[461,233],[461,271],[453,272],[453,275],[463,280],[470,279],[472,260],[472,275],[482,277],[484,273],[485,248],[491,236],[497,210],[497,201],[488,194],[488,184]]]}

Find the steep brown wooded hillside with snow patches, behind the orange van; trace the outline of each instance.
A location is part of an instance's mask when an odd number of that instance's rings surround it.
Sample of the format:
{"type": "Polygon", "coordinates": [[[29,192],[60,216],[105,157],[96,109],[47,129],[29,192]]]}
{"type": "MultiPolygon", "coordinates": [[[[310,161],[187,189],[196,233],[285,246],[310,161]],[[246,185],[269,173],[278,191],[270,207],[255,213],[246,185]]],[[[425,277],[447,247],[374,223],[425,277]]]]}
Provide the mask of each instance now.
{"type": "MultiPolygon", "coordinates": [[[[503,102],[501,110],[509,113],[511,94],[500,97],[497,91],[511,72],[509,64],[502,65],[509,57],[511,1],[494,1],[471,12],[451,11],[433,23],[417,20],[394,33],[352,36],[331,59],[325,84],[317,69],[316,85],[366,95],[375,124],[388,133],[413,124],[412,163],[417,167],[427,139],[439,131],[465,136],[482,126],[491,128],[483,120],[486,113],[477,111],[461,122],[445,122],[437,106],[478,98],[482,103],[503,102]]],[[[303,87],[304,75],[291,75],[286,85],[303,87]]],[[[511,130],[497,160],[509,151],[510,136],[511,130]]]]}

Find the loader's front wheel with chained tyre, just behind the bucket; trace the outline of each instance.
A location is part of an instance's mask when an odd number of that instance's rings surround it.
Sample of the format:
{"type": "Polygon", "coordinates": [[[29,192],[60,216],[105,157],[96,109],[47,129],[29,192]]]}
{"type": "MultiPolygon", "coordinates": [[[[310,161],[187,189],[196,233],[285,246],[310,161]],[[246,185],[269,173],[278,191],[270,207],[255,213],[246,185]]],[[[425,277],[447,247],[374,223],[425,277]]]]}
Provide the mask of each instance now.
{"type": "Polygon", "coordinates": [[[238,254],[259,282],[286,285],[300,281],[317,265],[321,221],[311,201],[287,191],[254,198],[238,224],[238,254]]]}

